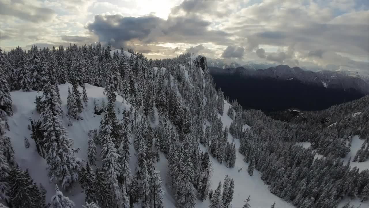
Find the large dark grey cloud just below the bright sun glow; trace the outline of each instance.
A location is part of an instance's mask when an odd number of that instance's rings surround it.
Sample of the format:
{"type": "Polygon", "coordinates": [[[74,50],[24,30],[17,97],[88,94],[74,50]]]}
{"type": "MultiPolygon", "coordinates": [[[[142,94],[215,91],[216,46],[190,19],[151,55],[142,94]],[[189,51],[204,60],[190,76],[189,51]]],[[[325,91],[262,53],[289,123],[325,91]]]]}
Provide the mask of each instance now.
{"type": "Polygon", "coordinates": [[[119,14],[99,14],[87,28],[96,34],[100,41],[110,42],[117,47],[131,40],[144,43],[227,43],[228,34],[219,30],[207,30],[209,25],[210,22],[199,17],[168,17],[168,20],[164,20],[155,16],[124,17],[119,14]]]}

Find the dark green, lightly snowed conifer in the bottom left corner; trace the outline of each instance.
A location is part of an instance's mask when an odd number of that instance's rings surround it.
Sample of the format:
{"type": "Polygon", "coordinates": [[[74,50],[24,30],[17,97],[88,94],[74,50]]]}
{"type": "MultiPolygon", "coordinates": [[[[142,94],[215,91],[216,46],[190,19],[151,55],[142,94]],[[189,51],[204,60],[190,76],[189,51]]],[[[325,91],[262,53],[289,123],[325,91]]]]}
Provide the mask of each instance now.
{"type": "Polygon", "coordinates": [[[7,195],[13,207],[45,207],[45,201],[41,198],[40,190],[33,183],[28,170],[22,171],[18,168],[12,168],[7,180],[11,184],[7,195]]]}

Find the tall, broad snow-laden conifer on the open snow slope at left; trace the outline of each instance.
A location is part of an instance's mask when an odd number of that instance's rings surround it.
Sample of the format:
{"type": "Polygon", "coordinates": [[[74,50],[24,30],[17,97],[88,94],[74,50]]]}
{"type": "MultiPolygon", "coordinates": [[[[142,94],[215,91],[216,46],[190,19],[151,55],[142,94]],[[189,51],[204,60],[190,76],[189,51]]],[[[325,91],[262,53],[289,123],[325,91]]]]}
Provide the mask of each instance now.
{"type": "Polygon", "coordinates": [[[41,118],[49,177],[61,182],[64,189],[69,189],[78,180],[81,162],[74,156],[73,142],[67,137],[66,129],[58,118],[61,115],[61,106],[54,85],[48,82],[43,91],[45,109],[41,118]]]}

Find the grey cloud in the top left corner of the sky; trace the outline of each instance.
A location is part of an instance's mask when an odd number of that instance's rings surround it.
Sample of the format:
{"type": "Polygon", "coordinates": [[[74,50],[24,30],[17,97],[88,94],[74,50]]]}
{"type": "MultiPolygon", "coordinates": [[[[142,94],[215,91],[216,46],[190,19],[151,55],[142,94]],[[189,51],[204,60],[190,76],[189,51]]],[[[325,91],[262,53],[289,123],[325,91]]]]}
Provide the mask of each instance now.
{"type": "Polygon", "coordinates": [[[46,7],[38,7],[30,1],[0,1],[1,16],[12,16],[34,23],[50,21],[56,16],[54,10],[46,7]]]}

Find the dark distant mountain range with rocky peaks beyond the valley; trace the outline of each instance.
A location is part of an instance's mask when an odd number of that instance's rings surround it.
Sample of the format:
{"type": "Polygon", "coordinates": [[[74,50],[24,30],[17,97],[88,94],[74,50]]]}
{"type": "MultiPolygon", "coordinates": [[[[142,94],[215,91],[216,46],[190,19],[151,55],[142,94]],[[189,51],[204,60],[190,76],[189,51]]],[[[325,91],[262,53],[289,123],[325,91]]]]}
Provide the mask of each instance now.
{"type": "Polygon", "coordinates": [[[221,87],[244,108],[322,110],[369,94],[369,84],[362,78],[328,70],[313,72],[287,65],[258,70],[250,67],[209,67],[209,70],[216,87],[221,87]],[[252,89],[247,96],[242,93],[245,89],[252,89]]]}

